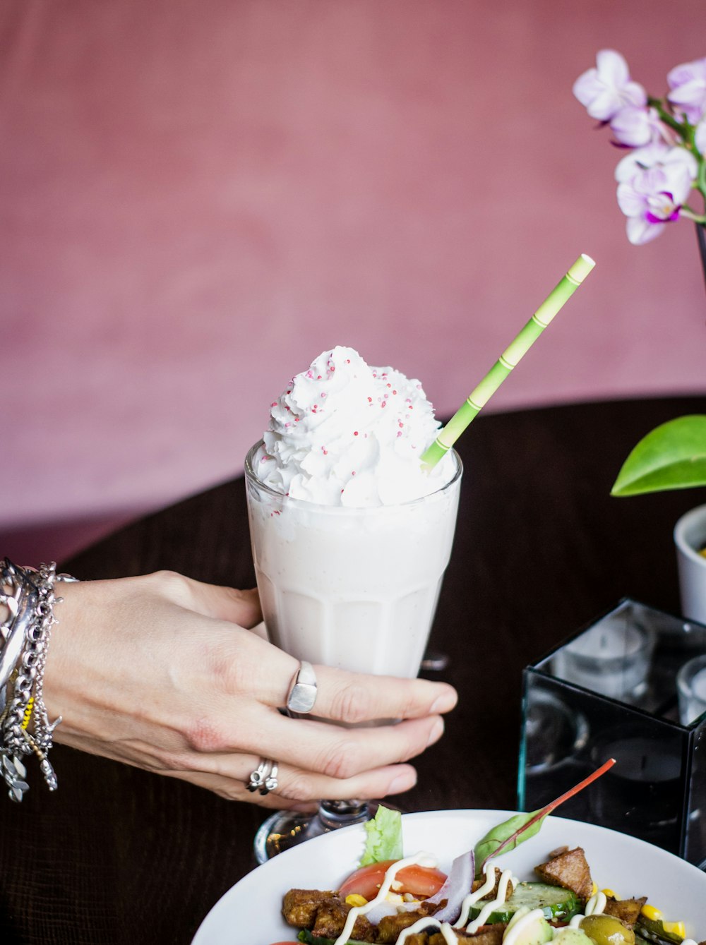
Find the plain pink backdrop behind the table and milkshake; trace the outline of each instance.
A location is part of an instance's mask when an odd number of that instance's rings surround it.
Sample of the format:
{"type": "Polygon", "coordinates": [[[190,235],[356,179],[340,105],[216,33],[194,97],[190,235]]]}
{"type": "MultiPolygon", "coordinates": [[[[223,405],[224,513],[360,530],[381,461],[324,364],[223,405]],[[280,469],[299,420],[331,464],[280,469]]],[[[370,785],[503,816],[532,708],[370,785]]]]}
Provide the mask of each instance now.
{"type": "Polygon", "coordinates": [[[705,26],[703,0],[4,0],[0,550],[239,472],[335,343],[452,411],[580,251],[493,408],[703,390],[694,232],[629,246],[571,86],[613,46],[661,94],[705,26]]]}

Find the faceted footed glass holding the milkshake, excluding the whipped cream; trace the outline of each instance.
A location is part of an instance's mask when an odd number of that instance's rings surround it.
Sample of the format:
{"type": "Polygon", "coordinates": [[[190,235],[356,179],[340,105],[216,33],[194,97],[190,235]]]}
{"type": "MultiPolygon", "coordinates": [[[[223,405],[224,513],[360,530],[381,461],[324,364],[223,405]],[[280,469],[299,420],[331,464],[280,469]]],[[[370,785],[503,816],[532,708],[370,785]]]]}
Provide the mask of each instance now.
{"type": "MultiPolygon", "coordinates": [[[[458,455],[451,478],[428,495],[400,505],[342,507],[270,489],[253,467],[261,445],[250,450],[245,472],[252,554],[271,643],[298,660],[417,676],[454,539],[458,455]]],[[[322,803],[319,832],[334,826],[342,803],[357,805],[357,819],[369,816],[361,801],[322,803]]],[[[350,822],[351,812],[343,813],[350,822]]],[[[278,835],[280,828],[269,824],[278,835]]],[[[256,843],[258,858],[274,852],[263,850],[256,843]]]]}

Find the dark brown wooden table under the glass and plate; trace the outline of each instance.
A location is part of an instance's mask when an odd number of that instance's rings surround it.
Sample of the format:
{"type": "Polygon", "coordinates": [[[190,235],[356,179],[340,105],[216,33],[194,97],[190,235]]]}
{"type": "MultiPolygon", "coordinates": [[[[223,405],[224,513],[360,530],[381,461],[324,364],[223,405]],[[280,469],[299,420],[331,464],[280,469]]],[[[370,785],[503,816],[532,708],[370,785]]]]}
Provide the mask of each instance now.
{"type": "MultiPolygon", "coordinates": [[[[638,438],[704,411],[706,396],[549,407],[482,416],[462,438],[456,544],[432,637],[461,698],[418,760],[418,786],[397,799],[406,810],[513,807],[525,664],[624,595],[679,610],[671,530],[703,493],[609,491],[638,438]]],[[[252,586],[243,480],[64,566],[81,579],[170,568],[252,586]]],[[[0,801],[0,942],[188,943],[255,866],[260,808],[61,746],[52,761],[56,794],[34,772],[21,805],[0,801]]]]}

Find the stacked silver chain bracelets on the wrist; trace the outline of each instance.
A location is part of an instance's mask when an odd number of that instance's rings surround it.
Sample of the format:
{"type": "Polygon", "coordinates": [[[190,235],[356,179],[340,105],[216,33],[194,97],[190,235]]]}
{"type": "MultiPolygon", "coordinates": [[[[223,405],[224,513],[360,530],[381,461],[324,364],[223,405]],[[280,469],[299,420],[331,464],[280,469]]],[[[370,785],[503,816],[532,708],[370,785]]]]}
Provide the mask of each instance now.
{"type": "Polygon", "coordinates": [[[57,776],[47,754],[61,717],[49,722],[43,698],[44,666],[51,628],[58,623],[54,605],[55,581],[74,581],[57,575],[57,566],[20,568],[0,561],[0,604],[9,615],[0,623],[0,763],[9,797],[21,801],[29,785],[23,757],[32,752],[40,760],[44,781],[57,789],[57,776]],[[29,730],[31,723],[31,732],[29,730]]]}

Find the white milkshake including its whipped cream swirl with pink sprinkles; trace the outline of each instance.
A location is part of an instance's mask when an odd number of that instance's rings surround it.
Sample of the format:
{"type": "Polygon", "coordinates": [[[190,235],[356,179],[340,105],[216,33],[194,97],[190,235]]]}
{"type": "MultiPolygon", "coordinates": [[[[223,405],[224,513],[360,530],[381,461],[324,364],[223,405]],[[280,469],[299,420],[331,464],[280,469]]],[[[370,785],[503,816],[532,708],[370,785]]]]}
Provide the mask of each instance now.
{"type": "Polygon", "coordinates": [[[246,463],[270,640],[300,660],[414,677],[456,524],[460,461],[418,381],[323,352],[271,404],[246,463]]]}

